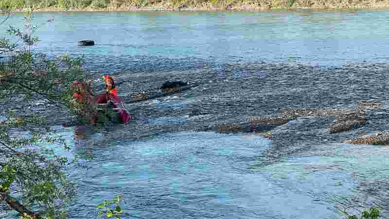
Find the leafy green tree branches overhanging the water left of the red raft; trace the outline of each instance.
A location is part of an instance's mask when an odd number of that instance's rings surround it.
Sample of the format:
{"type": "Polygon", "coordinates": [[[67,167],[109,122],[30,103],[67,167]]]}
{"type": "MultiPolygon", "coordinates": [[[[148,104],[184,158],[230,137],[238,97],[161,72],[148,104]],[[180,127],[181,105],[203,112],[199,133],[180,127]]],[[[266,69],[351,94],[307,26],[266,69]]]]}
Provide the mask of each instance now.
{"type": "MultiPolygon", "coordinates": [[[[31,13],[25,19],[33,20],[31,13]]],[[[0,124],[0,199],[7,199],[10,207],[19,212],[34,207],[40,217],[62,219],[66,218],[62,209],[76,191],[66,172],[79,164],[54,152],[54,145],[65,150],[70,147],[50,132],[45,117],[26,114],[11,106],[40,99],[58,110],[69,109],[72,82],[85,80],[83,61],[82,57],[69,55],[50,60],[34,54],[31,46],[38,38],[33,34],[39,26],[26,23],[26,32],[12,26],[7,29],[17,42],[0,40],[0,54],[8,55],[7,60],[0,61],[0,101],[3,101],[0,110],[7,118],[0,124]],[[20,41],[23,46],[18,45],[20,41]],[[18,96],[22,97],[19,102],[9,101],[18,96]],[[10,107],[3,109],[3,106],[10,107]]],[[[35,217],[32,213],[28,215],[35,217]]]]}

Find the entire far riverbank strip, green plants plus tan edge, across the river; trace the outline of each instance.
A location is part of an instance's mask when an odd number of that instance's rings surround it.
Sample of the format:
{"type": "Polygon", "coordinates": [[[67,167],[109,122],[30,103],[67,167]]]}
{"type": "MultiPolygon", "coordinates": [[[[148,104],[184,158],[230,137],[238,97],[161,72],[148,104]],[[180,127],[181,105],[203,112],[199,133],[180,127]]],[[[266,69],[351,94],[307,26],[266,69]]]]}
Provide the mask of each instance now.
{"type": "Polygon", "coordinates": [[[18,11],[264,10],[285,8],[379,8],[387,0],[0,0],[18,11]]]}

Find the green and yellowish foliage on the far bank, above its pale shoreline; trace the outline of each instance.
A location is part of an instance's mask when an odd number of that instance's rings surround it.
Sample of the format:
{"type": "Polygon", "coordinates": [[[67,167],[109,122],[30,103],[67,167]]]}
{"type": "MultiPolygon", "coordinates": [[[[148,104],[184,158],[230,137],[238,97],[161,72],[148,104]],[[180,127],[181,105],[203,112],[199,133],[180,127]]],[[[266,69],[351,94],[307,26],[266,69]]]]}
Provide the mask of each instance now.
{"type": "MultiPolygon", "coordinates": [[[[334,7],[374,7],[370,0],[337,0],[337,1],[320,1],[320,0],[0,0],[0,7],[9,6],[9,8],[41,8],[41,7],[58,7],[63,9],[69,8],[107,8],[108,6],[127,8],[149,7],[155,6],[162,2],[161,5],[166,5],[173,8],[182,7],[202,7],[204,5],[212,5],[213,7],[226,9],[233,6],[247,4],[253,8],[291,8],[294,5],[299,7],[312,7],[314,4],[326,7],[334,5],[334,7]]],[[[388,5],[388,4],[387,4],[388,5]]],[[[162,6],[163,7],[163,6],[162,6]]]]}

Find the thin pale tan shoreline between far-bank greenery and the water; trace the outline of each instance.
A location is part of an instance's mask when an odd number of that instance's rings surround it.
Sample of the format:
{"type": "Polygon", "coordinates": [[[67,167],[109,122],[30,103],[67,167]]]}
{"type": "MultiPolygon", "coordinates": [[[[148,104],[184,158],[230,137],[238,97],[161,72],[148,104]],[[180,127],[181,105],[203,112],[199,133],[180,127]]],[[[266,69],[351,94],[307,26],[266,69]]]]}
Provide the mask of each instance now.
{"type": "Polygon", "coordinates": [[[240,5],[233,7],[185,7],[185,8],[176,8],[176,7],[127,7],[127,8],[16,8],[13,9],[13,12],[139,12],[139,11],[192,11],[192,12],[212,12],[212,11],[229,11],[229,12],[239,12],[239,11],[277,11],[277,10],[288,10],[296,11],[300,9],[310,9],[312,11],[332,11],[332,10],[358,10],[358,9],[386,9],[389,8],[389,2],[384,5],[377,6],[351,6],[351,7],[272,7],[264,8],[253,5],[240,5]]]}

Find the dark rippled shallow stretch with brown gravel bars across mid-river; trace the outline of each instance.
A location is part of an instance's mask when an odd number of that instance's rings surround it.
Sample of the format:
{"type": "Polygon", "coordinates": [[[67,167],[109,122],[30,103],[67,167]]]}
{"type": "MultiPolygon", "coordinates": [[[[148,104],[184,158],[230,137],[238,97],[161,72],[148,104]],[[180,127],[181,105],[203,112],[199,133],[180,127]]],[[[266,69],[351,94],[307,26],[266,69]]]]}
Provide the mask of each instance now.
{"type": "MultiPolygon", "coordinates": [[[[115,130],[128,132],[117,135],[118,138],[137,139],[170,131],[217,132],[221,126],[238,125],[238,129],[224,128],[223,132],[250,132],[250,127],[255,126],[256,132],[273,132],[275,144],[289,139],[289,135],[306,138],[308,142],[342,142],[354,139],[358,132],[379,132],[388,126],[387,64],[324,68],[227,63],[222,70],[202,66],[188,71],[115,73],[120,83],[118,91],[133,116],[128,126],[115,130]],[[160,86],[168,80],[188,81],[196,86],[163,95],[160,86]],[[134,93],[147,93],[148,100],[133,101],[134,93]],[[160,122],[153,124],[152,118],[159,118],[160,122]]],[[[103,91],[100,75],[89,76],[94,79],[95,92],[103,91]]],[[[69,119],[68,111],[58,112],[42,101],[15,108],[20,114],[29,110],[42,113],[52,125],[69,119]],[[54,117],[53,113],[60,116],[54,117]]]]}

